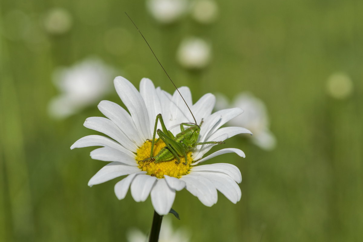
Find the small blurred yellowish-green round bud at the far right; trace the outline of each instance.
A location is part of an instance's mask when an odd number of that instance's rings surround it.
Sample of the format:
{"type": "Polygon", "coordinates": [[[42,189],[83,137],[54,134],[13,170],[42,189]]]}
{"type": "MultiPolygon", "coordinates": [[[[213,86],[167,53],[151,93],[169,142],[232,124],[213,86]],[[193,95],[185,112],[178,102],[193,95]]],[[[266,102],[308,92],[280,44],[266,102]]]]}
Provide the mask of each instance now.
{"type": "Polygon", "coordinates": [[[338,72],[329,77],[326,87],[331,97],[343,99],[352,93],[353,82],[347,74],[338,72]]]}

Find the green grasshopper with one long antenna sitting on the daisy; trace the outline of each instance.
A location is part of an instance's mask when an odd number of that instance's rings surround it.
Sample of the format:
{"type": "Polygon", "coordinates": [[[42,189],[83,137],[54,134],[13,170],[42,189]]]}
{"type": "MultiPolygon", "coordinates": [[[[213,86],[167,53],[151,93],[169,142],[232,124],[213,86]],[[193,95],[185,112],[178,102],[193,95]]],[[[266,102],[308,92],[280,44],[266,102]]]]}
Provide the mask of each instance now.
{"type": "MultiPolygon", "coordinates": [[[[126,13],[126,15],[127,15],[127,13],[126,13]]],[[[203,124],[203,119],[201,120],[200,124],[198,125],[192,111],[190,110],[190,108],[189,108],[189,106],[187,104],[187,102],[185,102],[185,100],[184,100],[183,96],[181,95],[181,93],[179,92],[178,88],[175,86],[174,82],[172,81],[172,79],[170,78],[170,76],[168,75],[166,70],[164,69],[163,65],[160,63],[158,57],[156,57],[154,51],[151,49],[151,46],[147,42],[146,38],[140,32],[139,28],[136,26],[134,21],[132,21],[130,16],[127,15],[127,17],[129,17],[132,24],[134,24],[135,28],[138,30],[138,32],[143,37],[144,41],[146,42],[146,44],[150,48],[152,54],[154,55],[156,60],[159,62],[159,65],[162,67],[165,74],[168,76],[169,80],[171,81],[171,83],[174,85],[175,89],[180,94],[180,97],[183,99],[185,105],[187,105],[188,110],[189,110],[189,112],[191,113],[191,115],[192,115],[192,117],[194,119],[194,123],[181,123],[180,124],[180,131],[181,132],[174,136],[169,130],[167,130],[167,128],[166,128],[166,126],[164,124],[163,116],[161,114],[156,115],[154,133],[152,135],[152,140],[151,140],[150,157],[148,159],[140,160],[140,161],[148,161],[149,160],[149,161],[153,161],[155,163],[159,163],[159,162],[162,162],[162,161],[169,161],[169,160],[172,160],[172,159],[176,158],[177,161],[175,161],[175,163],[179,164],[180,163],[180,157],[184,156],[185,163],[183,163],[183,164],[187,165],[187,153],[189,151],[189,147],[195,147],[196,145],[203,145],[203,144],[224,144],[223,141],[197,142],[197,140],[199,138],[199,133],[200,133],[200,126],[203,124]],[[160,124],[162,126],[162,130],[157,129],[158,121],[160,121],[160,124]],[[184,126],[187,126],[188,128],[184,128],[184,126]],[[159,138],[155,141],[156,133],[158,134],[159,138]],[[166,146],[163,147],[156,156],[154,156],[154,145],[160,139],[162,139],[164,141],[166,146]]]]}

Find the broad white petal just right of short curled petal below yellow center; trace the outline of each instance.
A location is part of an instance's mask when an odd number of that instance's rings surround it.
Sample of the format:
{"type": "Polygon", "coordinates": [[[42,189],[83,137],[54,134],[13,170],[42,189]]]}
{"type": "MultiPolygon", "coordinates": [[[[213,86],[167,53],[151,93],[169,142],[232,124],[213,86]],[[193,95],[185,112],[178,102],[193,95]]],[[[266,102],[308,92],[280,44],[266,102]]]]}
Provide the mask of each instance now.
{"type": "Polygon", "coordinates": [[[186,189],[196,196],[205,206],[212,206],[217,202],[217,190],[211,181],[199,175],[188,174],[182,176],[181,180],[185,181],[186,189]]]}

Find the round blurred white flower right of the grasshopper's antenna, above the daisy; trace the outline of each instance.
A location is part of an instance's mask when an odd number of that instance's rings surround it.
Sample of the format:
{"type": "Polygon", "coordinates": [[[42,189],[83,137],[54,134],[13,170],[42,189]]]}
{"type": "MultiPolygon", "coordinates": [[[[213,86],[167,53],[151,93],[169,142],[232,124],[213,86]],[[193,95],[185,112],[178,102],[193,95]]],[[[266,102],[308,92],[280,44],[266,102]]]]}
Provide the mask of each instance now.
{"type": "Polygon", "coordinates": [[[185,38],[179,45],[176,57],[185,68],[201,69],[211,59],[211,46],[201,38],[185,38]]]}

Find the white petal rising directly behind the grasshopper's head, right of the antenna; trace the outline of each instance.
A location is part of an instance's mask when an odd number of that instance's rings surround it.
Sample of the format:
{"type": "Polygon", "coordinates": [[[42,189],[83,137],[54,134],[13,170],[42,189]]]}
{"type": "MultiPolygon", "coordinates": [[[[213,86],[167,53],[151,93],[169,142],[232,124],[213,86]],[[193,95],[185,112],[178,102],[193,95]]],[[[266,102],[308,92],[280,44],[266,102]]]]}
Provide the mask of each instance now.
{"type": "Polygon", "coordinates": [[[211,93],[207,93],[203,95],[203,97],[201,97],[191,107],[195,119],[197,120],[197,124],[199,124],[202,119],[205,119],[209,115],[211,115],[215,103],[216,103],[216,97],[211,93]]]}

